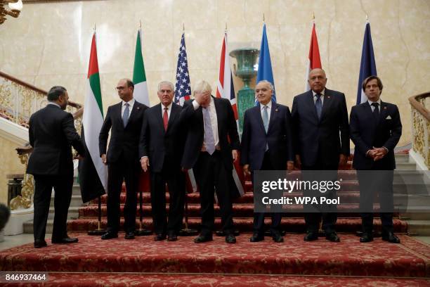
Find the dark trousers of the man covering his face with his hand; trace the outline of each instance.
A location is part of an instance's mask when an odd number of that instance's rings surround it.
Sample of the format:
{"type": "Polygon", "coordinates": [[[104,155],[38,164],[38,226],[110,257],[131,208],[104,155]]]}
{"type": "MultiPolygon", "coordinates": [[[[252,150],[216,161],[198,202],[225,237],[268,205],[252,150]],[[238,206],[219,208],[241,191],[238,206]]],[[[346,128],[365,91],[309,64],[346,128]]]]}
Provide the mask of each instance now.
{"type": "Polygon", "coordinates": [[[229,181],[220,151],[212,155],[201,152],[193,172],[200,188],[200,213],[202,215],[203,236],[209,236],[214,231],[214,191],[218,198],[221,212],[221,225],[225,234],[233,232],[233,205],[230,200],[229,181]]]}

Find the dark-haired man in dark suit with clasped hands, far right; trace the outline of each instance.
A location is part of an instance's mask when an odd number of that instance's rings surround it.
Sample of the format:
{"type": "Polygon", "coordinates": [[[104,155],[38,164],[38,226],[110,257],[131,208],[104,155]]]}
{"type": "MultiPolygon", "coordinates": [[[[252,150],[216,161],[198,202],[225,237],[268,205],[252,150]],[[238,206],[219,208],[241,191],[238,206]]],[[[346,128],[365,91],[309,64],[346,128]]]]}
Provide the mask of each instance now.
{"type": "Polygon", "coordinates": [[[353,167],[360,184],[360,211],[363,235],[360,242],[373,240],[373,199],[379,193],[382,240],[400,243],[393,234],[394,148],[402,134],[398,108],[381,101],[382,82],[377,76],[363,81],[367,101],[351,109],[351,139],[356,145],[353,167]]]}

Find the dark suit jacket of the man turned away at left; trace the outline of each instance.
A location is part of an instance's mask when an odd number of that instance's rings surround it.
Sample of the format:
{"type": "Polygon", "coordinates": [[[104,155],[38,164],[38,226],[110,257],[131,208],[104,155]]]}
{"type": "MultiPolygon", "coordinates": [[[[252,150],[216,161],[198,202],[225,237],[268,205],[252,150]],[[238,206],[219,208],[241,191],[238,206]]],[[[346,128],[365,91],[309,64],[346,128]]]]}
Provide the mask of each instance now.
{"type": "Polygon", "coordinates": [[[85,155],[72,114],[48,104],[30,117],[29,125],[33,151],[28,160],[27,173],[72,176],[72,146],[80,155],[85,155]]]}

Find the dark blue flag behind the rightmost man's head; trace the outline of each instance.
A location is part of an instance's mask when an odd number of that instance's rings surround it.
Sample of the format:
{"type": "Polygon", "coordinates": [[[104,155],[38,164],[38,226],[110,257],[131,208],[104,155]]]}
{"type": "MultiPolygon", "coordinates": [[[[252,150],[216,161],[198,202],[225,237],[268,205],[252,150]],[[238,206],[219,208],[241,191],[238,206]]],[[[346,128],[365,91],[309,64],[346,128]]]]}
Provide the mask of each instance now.
{"type": "Polygon", "coordinates": [[[360,75],[358,77],[358,89],[357,89],[357,105],[367,101],[361,84],[364,79],[370,76],[376,76],[376,63],[374,61],[372,34],[370,34],[370,23],[366,21],[365,36],[363,39],[363,50],[361,52],[361,63],[360,63],[360,75]]]}

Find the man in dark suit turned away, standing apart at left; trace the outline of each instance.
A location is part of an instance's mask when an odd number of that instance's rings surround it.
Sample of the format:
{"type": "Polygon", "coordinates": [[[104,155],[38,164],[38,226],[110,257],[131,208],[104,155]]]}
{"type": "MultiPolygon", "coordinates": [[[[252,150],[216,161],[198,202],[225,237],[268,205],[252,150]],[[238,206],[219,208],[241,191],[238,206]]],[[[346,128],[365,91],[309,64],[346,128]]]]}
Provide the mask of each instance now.
{"type": "Polygon", "coordinates": [[[69,95],[64,87],[52,87],[48,105],[30,117],[29,139],[33,147],[27,173],[33,174],[34,189],[34,248],[46,246],[45,232],[52,189],[54,222],[52,243],[74,243],[77,238],[67,236],[67,212],[72,198],[72,146],[84,155],[85,148],[74,128],[74,120],[65,112],[69,95]]]}

